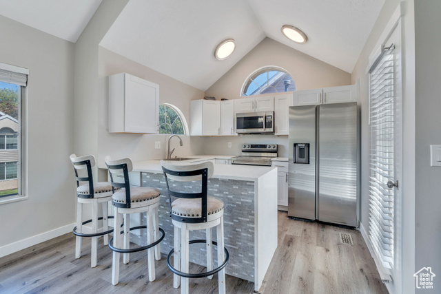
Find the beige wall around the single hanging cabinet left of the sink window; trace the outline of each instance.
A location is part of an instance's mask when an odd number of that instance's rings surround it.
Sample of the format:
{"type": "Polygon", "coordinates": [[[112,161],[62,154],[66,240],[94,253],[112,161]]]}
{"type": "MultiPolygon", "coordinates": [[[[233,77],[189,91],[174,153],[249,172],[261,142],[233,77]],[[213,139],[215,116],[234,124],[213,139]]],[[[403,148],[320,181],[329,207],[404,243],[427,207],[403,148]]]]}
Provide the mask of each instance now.
{"type": "MultiPolygon", "coordinates": [[[[183,112],[189,123],[189,101],[202,99],[204,92],[192,86],[176,81],[165,74],[151,70],[144,65],[126,59],[105,48],[99,48],[99,101],[98,101],[98,157],[99,164],[104,165],[104,157],[130,157],[132,160],[162,159],[167,155],[167,138],[170,135],[110,134],[108,132],[108,77],[112,74],[127,72],[159,85],[159,103],[170,103],[183,112]],[[154,142],[161,142],[161,149],[154,149],[154,142]]],[[[201,154],[201,138],[181,136],[183,147],[178,139],[173,138],[171,149],[176,147],[173,156],[201,154]]],[[[101,173],[100,173],[101,174],[101,173]]]]}

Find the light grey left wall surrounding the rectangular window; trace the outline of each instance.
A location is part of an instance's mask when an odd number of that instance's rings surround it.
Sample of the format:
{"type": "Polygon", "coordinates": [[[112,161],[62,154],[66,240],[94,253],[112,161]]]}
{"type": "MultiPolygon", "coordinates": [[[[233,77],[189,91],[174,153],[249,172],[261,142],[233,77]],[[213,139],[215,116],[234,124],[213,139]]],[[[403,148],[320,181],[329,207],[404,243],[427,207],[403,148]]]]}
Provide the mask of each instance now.
{"type": "MultiPolygon", "coordinates": [[[[69,160],[74,149],[74,44],[2,16],[0,27],[0,62],[30,70],[23,125],[28,200],[0,205],[1,255],[2,246],[72,224],[75,182],[69,160]]],[[[17,250],[21,244],[6,247],[17,250]]]]}

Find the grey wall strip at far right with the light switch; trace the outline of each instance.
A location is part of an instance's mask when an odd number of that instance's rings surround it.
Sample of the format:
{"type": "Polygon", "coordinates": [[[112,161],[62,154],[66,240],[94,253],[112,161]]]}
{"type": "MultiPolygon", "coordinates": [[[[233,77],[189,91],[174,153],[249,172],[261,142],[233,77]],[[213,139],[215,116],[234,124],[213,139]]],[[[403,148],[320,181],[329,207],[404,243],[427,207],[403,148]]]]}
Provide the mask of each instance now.
{"type": "Polygon", "coordinates": [[[431,266],[441,288],[441,169],[430,167],[429,145],[441,145],[441,1],[415,1],[416,202],[415,270],[431,266]]]}

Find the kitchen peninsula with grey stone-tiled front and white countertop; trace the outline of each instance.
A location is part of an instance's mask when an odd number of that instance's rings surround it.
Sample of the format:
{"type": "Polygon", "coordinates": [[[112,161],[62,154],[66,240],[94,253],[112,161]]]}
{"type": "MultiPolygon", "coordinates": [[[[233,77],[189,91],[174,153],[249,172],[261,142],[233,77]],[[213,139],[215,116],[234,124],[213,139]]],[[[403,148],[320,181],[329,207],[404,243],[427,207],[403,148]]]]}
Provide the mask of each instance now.
{"type": "MultiPolygon", "coordinates": [[[[207,156],[194,157],[199,158],[185,162],[209,159],[207,156]]],[[[159,160],[134,162],[131,174],[133,182],[161,190],[159,227],[165,231],[161,252],[167,254],[173,247],[174,229],[161,163],[159,160]]],[[[214,175],[208,182],[208,194],[224,202],[225,246],[229,251],[226,273],[254,282],[258,291],[277,247],[277,168],[215,164],[214,175]]],[[[145,223],[145,216],[142,222],[145,223]]],[[[132,242],[141,238],[133,237],[132,242]]],[[[215,233],[213,238],[216,240],[215,233]]],[[[205,232],[191,231],[190,240],[194,239],[205,239],[205,232]]],[[[205,265],[204,248],[192,245],[190,261],[205,265]]],[[[214,262],[217,262],[216,256],[214,262]]]]}

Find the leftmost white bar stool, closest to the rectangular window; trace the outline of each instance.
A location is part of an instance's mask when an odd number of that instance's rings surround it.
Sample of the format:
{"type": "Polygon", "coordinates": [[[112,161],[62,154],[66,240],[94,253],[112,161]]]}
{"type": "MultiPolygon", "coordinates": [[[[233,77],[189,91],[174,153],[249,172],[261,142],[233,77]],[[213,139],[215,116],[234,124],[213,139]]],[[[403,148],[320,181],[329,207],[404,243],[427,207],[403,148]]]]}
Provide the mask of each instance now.
{"type": "Polygon", "coordinates": [[[75,154],[70,156],[70,161],[74,165],[75,178],[76,178],[76,195],[77,207],[76,207],[76,227],[73,229],[74,235],[76,235],[75,244],[75,258],[81,257],[81,241],[83,237],[92,238],[92,250],[91,250],[91,267],[96,266],[97,261],[97,248],[98,237],[103,235],[104,244],[107,245],[109,240],[109,233],[112,233],[113,229],[109,230],[107,219],[113,218],[107,216],[107,202],[112,200],[112,185],[110,182],[94,182],[92,178],[92,167],[95,166],[95,158],[93,155],[77,157],[75,154]],[[83,177],[79,176],[79,173],[83,177]],[[88,182],[87,184],[80,185],[80,182],[88,182]],[[92,218],[82,222],[83,218],[83,204],[92,204],[92,218]],[[103,217],[98,218],[98,206],[101,204],[103,210],[103,217]],[[103,220],[103,232],[98,231],[98,220],[103,220]],[[92,222],[92,233],[85,234],[83,232],[83,224],[92,222]]]}

